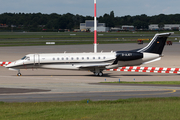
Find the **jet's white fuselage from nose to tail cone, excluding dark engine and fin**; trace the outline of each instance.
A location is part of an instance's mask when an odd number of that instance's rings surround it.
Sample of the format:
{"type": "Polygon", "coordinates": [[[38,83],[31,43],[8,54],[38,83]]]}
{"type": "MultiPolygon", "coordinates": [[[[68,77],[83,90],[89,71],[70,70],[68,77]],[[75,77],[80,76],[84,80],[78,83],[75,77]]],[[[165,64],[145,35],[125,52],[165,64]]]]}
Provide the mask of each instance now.
{"type": "Polygon", "coordinates": [[[103,53],[52,53],[52,54],[28,54],[21,60],[17,60],[7,65],[10,69],[71,69],[71,70],[90,70],[100,68],[117,68],[122,66],[141,65],[160,58],[158,54],[143,53],[142,59],[131,61],[118,61],[116,52],[103,53]]]}

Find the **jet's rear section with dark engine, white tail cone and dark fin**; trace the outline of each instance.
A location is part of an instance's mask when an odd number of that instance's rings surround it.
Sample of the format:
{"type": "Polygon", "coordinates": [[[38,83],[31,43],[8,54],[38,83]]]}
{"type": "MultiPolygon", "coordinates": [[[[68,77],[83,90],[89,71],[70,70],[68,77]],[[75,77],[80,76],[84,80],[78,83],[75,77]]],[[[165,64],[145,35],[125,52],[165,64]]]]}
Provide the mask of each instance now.
{"type": "MultiPolygon", "coordinates": [[[[155,62],[161,59],[167,38],[173,33],[156,34],[151,42],[141,49],[131,51],[117,51],[115,67],[137,66],[155,62]]],[[[114,67],[112,66],[112,67],[114,67]]]]}

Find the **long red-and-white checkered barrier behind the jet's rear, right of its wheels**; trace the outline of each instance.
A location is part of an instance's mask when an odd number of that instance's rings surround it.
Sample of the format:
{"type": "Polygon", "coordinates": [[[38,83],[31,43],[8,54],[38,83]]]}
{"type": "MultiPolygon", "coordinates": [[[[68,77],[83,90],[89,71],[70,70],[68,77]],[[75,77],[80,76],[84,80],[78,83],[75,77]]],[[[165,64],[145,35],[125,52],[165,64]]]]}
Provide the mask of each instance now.
{"type": "Polygon", "coordinates": [[[107,71],[125,71],[125,72],[149,72],[149,73],[175,73],[180,74],[180,68],[163,68],[163,67],[138,67],[128,66],[117,69],[107,69],[107,71]]]}

